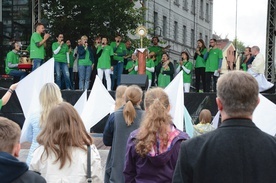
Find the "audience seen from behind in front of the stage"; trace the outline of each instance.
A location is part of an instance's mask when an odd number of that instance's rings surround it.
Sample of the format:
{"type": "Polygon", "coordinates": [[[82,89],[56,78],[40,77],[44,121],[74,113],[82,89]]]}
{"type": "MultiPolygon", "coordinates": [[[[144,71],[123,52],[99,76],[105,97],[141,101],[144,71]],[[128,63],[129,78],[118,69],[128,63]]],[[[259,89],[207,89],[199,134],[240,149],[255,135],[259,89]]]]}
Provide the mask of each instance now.
{"type": "MultiPolygon", "coordinates": [[[[8,102],[16,86],[10,86],[1,103],[8,102]]],[[[174,125],[163,88],[150,88],[143,97],[140,87],[120,85],[103,133],[104,144],[111,146],[103,170],[78,112],[63,101],[58,85],[46,83],[39,95],[41,109],[25,123],[32,143],[26,163],[16,158],[19,125],[0,117],[0,179],[4,183],[273,182],[276,139],[252,121],[258,95],[251,74],[232,71],[220,76],[216,103],[221,124],[213,128],[211,113],[204,109],[190,138],[174,125]]]]}

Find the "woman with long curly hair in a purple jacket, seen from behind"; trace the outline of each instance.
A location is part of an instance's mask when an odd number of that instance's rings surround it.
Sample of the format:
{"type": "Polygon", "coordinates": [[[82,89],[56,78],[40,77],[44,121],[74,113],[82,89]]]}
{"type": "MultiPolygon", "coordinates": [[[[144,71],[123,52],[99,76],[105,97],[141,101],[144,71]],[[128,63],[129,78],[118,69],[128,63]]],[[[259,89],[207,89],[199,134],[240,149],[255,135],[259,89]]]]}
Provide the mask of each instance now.
{"type": "Polygon", "coordinates": [[[189,136],[174,126],[169,98],[162,88],[147,91],[144,105],[141,126],[127,142],[125,182],[172,182],[180,144],[189,136]]]}

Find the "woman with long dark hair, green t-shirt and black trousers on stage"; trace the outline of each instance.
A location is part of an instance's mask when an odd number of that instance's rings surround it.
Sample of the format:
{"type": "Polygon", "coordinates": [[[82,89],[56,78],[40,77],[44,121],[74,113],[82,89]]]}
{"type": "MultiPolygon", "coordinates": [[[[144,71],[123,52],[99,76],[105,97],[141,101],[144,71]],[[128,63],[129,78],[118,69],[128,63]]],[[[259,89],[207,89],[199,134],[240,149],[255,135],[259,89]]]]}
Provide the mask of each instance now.
{"type": "Polygon", "coordinates": [[[206,83],[205,83],[205,64],[206,63],[203,58],[206,52],[207,52],[207,49],[204,44],[204,41],[202,39],[197,40],[197,48],[194,54],[194,59],[196,61],[195,63],[196,92],[199,92],[200,81],[202,83],[203,92],[206,91],[206,83]]]}

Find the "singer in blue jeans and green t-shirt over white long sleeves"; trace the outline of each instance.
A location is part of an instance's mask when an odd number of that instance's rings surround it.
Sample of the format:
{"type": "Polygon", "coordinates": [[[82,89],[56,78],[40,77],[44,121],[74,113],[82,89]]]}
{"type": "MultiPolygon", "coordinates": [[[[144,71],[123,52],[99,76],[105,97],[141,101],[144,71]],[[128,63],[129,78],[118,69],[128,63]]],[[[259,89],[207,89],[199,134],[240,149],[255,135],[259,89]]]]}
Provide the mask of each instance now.
{"type": "Polygon", "coordinates": [[[67,44],[64,44],[63,34],[58,34],[56,37],[57,42],[52,44],[53,57],[55,60],[56,84],[62,89],[61,86],[61,72],[65,81],[67,90],[71,89],[70,74],[68,70],[69,65],[69,49],[67,44]]]}

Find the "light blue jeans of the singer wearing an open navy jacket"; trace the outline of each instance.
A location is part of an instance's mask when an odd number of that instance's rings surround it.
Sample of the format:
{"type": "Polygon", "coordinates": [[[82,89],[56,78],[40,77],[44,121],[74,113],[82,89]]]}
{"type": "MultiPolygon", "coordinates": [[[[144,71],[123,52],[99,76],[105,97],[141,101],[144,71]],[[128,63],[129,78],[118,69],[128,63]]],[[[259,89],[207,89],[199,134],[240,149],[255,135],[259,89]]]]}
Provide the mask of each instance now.
{"type": "Polygon", "coordinates": [[[90,76],[92,73],[91,65],[79,65],[79,89],[86,90],[89,88],[90,76]]]}

